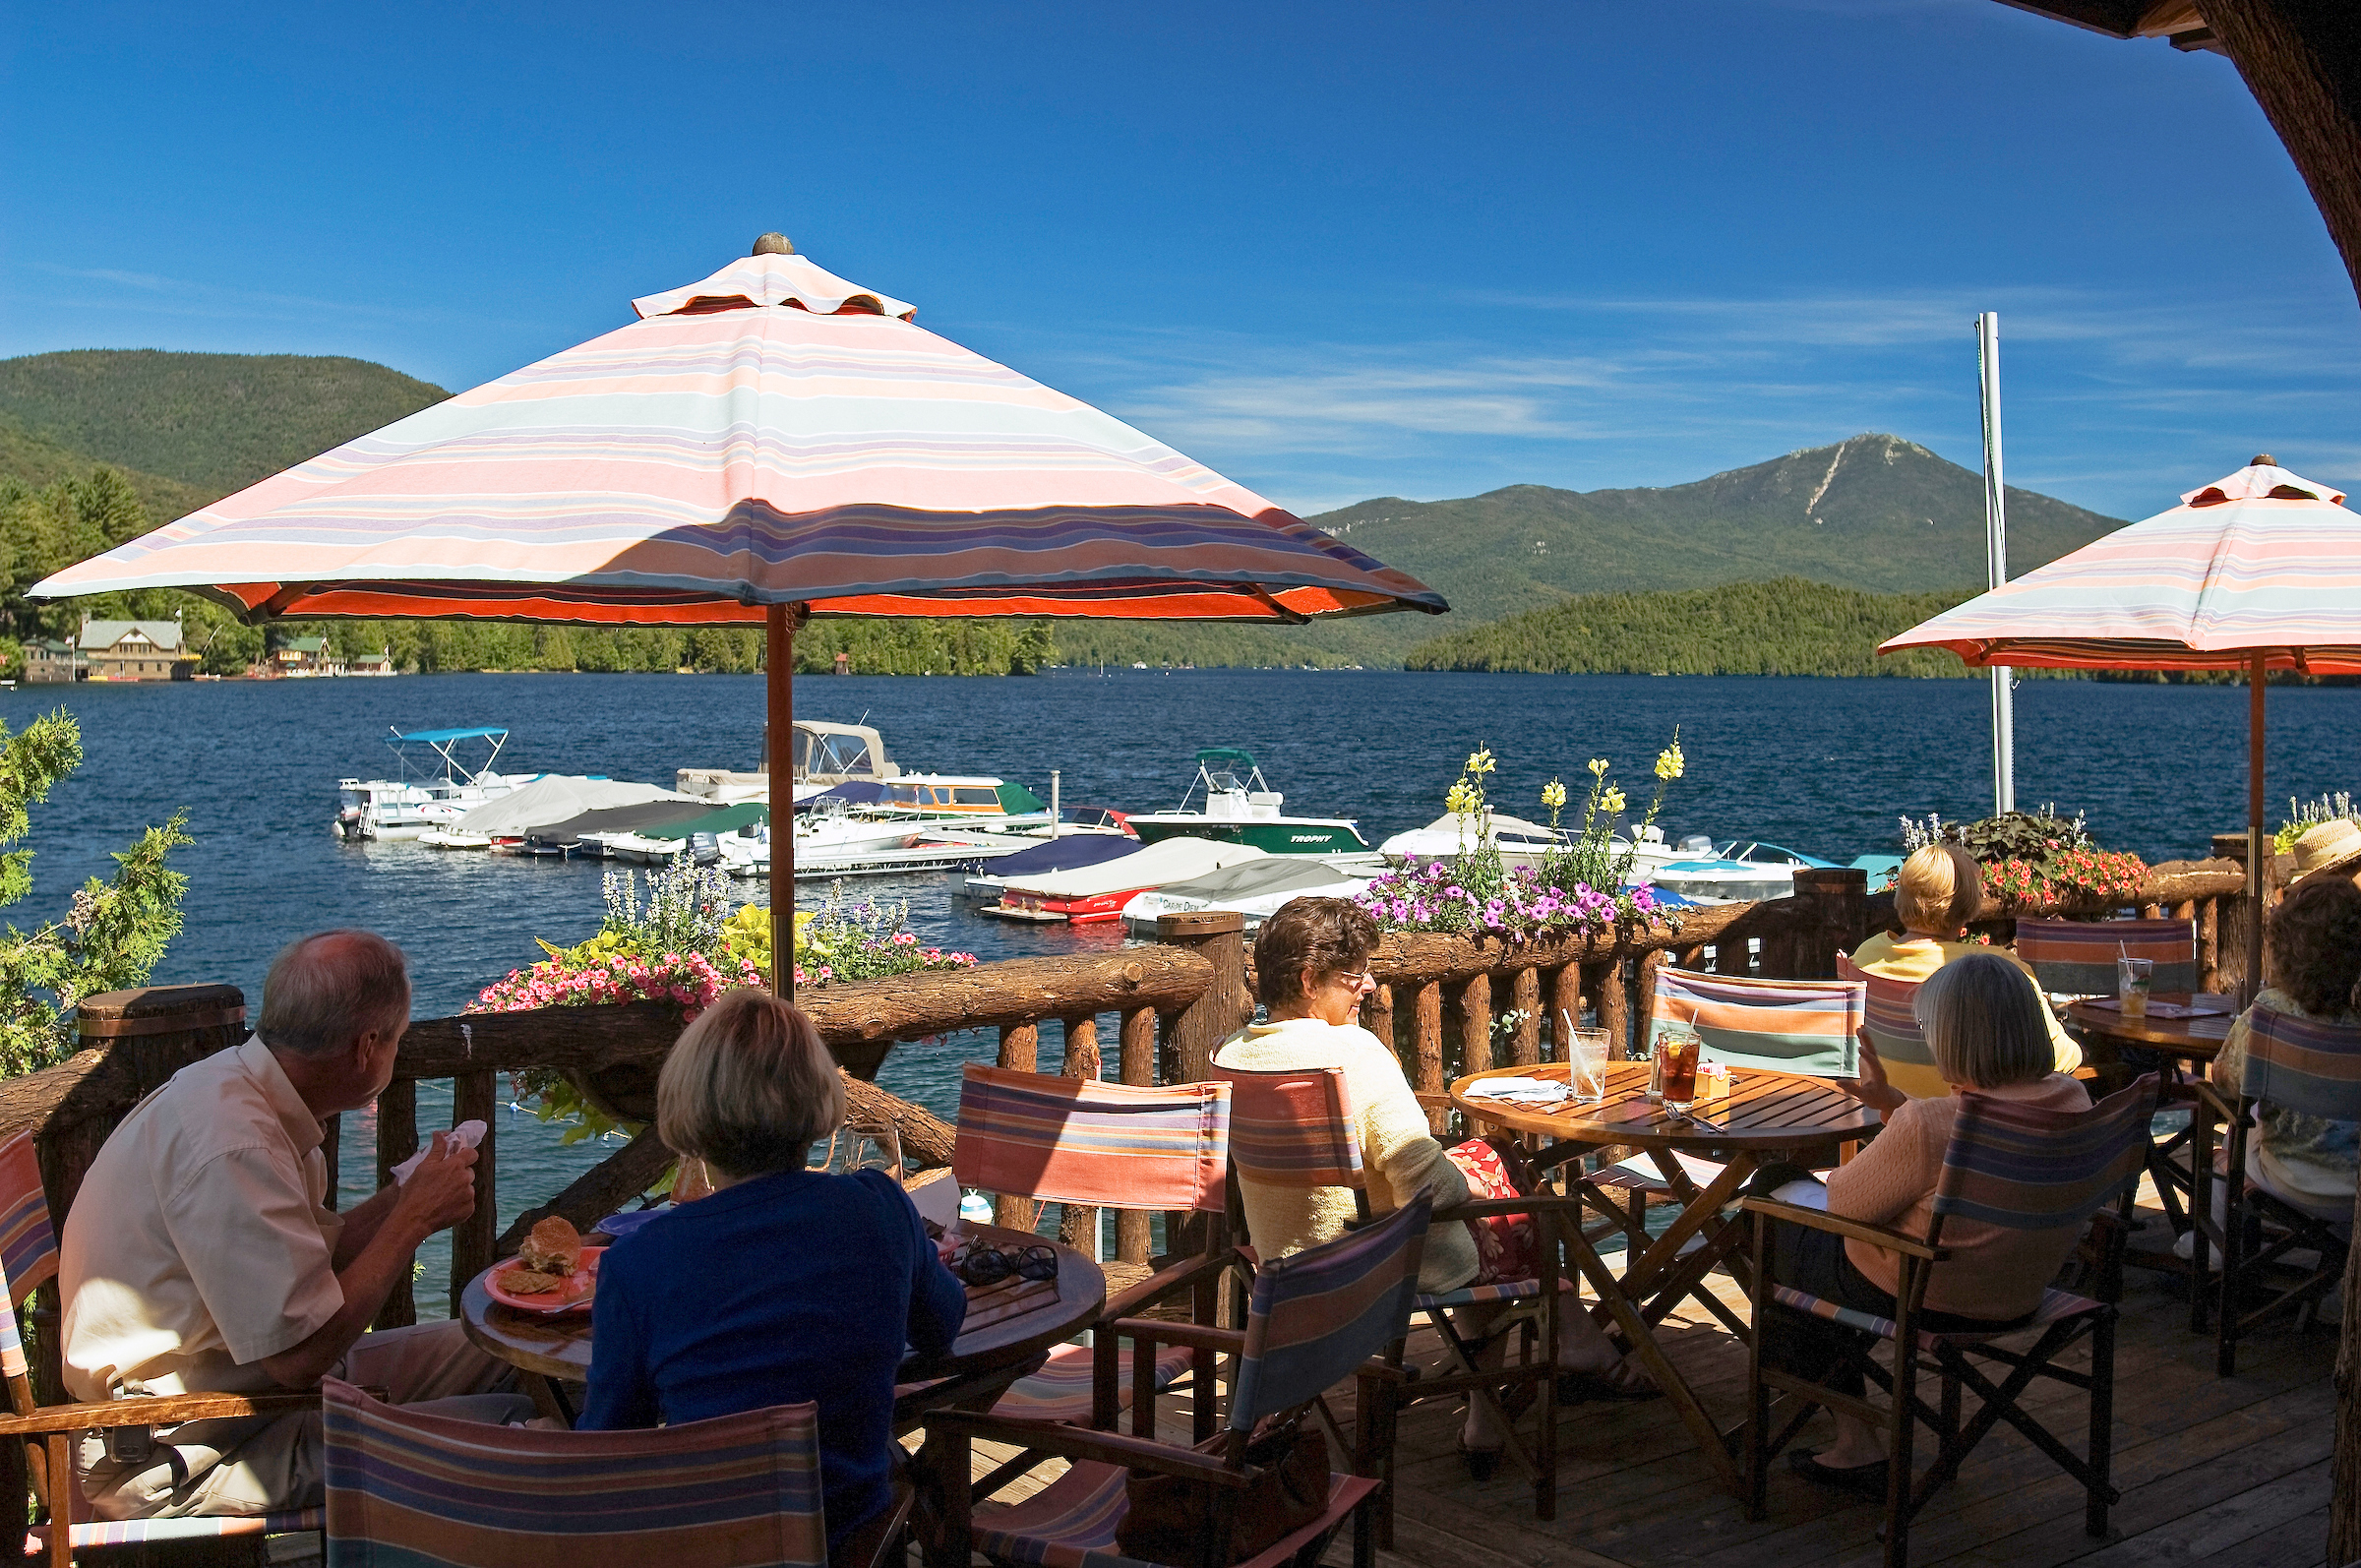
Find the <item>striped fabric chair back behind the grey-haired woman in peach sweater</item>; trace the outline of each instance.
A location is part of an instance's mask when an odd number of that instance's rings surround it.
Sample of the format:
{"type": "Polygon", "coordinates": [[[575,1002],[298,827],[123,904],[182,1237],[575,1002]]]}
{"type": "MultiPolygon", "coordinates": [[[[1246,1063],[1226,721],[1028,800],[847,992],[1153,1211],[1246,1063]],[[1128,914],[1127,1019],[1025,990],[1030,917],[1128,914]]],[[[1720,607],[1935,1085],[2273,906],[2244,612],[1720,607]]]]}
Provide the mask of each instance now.
{"type": "Polygon", "coordinates": [[[1962,1093],[1934,1188],[1936,1223],[1960,1216],[2009,1230],[2082,1226],[2149,1167],[2153,1115],[2153,1072],[2089,1110],[1962,1093]]]}

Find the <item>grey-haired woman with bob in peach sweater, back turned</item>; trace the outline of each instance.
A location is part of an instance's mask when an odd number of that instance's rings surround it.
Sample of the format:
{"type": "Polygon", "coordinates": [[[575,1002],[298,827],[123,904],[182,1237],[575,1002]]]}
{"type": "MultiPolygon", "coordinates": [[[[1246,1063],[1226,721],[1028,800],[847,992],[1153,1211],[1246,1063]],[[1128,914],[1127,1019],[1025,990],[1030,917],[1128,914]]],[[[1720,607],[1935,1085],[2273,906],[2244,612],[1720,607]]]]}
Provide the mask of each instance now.
{"type": "MultiPolygon", "coordinates": [[[[1901,1100],[1877,1138],[1827,1174],[1825,1195],[1809,1171],[1771,1164],[1757,1171],[1752,1190],[1825,1207],[1842,1219],[1891,1226],[1903,1235],[1927,1235],[1934,1221],[1934,1188],[1943,1176],[1943,1150],[1960,1115],[1962,1093],[1981,1093],[2035,1110],[2089,1110],[2082,1084],[2056,1070],[2045,1020],[2049,1006],[2026,985],[2026,971],[2002,954],[1969,952],[1943,963],[1917,994],[1917,1020],[1950,1093],[1934,1100],[1901,1100]],[[1825,1202],[1823,1202],[1825,1200],[1825,1202]]],[[[1877,1089],[1884,1070],[1863,1051],[1863,1086],[1877,1089]]],[[[1877,1098],[1865,1093],[1872,1105],[1877,1098]]],[[[2009,1230],[1962,1216],[1943,1223],[1950,1254],[1927,1280],[1929,1332],[1983,1332],[2023,1322],[2042,1304],[2080,1230],[2009,1230]]],[[[1773,1221],[1773,1268],[1780,1285],[1877,1318],[1894,1315],[1901,1266],[1891,1252],[1868,1242],[1773,1221]]],[[[1764,1358],[1797,1377],[1823,1377],[1856,1332],[1820,1318],[1775,1313],[1761,1325],[1764,1358]]],[[[1839,1393],[1860,1393],[1860,1374],[1830,1379],[1839,1393]]],[[[1813,1481],[1875,1497],[1886,1495],[1886,1457],[1877,1429],[1837,1415],[1830,1448],[1790,1452],[1787,1464],[1813,1481]]]]}

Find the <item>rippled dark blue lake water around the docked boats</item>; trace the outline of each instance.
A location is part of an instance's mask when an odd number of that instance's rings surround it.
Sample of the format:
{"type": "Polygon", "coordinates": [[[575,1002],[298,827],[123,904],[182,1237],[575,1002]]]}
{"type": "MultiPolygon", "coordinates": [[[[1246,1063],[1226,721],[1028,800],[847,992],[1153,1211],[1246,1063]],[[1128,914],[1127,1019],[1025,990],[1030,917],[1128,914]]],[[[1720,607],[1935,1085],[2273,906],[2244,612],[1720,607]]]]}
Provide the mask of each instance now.
{"type": "MultiPolygon", "coordinates": [[[[578,942],[600,921],[597,862],[527,862],[418,845],[338,843],[340,777],[390,777],[392,727],[508,725],[503,772],[593,772],[673,782],[675,767],[753,767],[763,685],[753,675],[401,675],[158,687],[19,687],[0,720],[19,730],[66,706],[87,760],[33,810],[35,895],[19,923],[64,912],[111,850],[187,808],[196,843],[187,930],[158,985],[217,980],[260,1008],[262,973],[290,937],[323,926],[382,930],[411,956],[416,1011],[460,1011],[477,989],[538,959],[534,937],[578,942]]],[[[1990,810],[1990,687],[1981,680],[1747,680],[1643,675],[1407,675],[1386,671],[1053,671],[1041,678],[833,678],[796,682],[796,713],[883,730],[911,770],[989,772],[1048,798],[1126,810],[1176,805],[1199,746],[1247,746],[1289,810],[1358,817],[1369,843],[1443,815],[1443,791],[1476,746],[1499,756],[1497,810],[1539,817],[1539,786],[1615,760],[1634,796],[1681,727],[1688,777],[1667,834],[1768,838],[1851,860],[1891,852],[1896,817],[1990,810]]],[[[2271,692],[2269,801],[2361,784],[2361,690],[2271,692]]],[[[2089,812],[2108,848],[2198,857],[2245,822],[2245,692],[2236,687],[2028,680],[2016,687],[2016,798],[2089,812]]],[[[1003,926],[951,900],[954,876],[852,883],[909,900],[930,945],[1006,959],[1114,947],[1119,928],[1003,926]]],[[[748,886],[751,890],[751,886],[748,886]]],[[[826,895],[805,886],[803,902],[826,895]]],[[[959,1065],[989,1060],[989,1034],[902,1046],[881,1084],[949,1115],[959,1065]]],[[[423,1096],[420,1124],[444,1103],[423,1096]]],[[[345,1148],[371,1148],[347,1126],[345,1148]]],[[[529,1115],[501,1129],[503,1223],[602,1157],[560,1145],[529,1115]]],[[[366,1195],[366,1157],[345,1159],[366,1195]]],[[[439,1242],[437,1242],[439,1244],[439,1242]]],[[[427,1280],[442,1261],[427,1259],[427,1280]]],[[[434,1285],[423,1296],[434,1299],[434,1285]]]]}

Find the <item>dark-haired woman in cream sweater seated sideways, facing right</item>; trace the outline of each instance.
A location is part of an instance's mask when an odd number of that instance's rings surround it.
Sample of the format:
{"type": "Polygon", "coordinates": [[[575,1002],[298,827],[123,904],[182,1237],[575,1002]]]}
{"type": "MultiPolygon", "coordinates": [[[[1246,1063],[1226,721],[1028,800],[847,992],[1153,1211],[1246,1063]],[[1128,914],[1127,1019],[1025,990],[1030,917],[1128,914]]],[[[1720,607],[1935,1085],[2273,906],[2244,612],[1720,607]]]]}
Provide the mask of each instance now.
{"type": "MultiPolygon", "coordinates": [[[[1426,1126],[1426,1110],[1402,1077],[1393,1046],[1360,1027],[1360,1004],[1376,989],[1369,954],[1376,921],[1343,897],[1289,900],[1263,921],[1254,940],[1254,985],[1263,1023],[1247,1025],[1214,1053],[1216,1072],[1303,1072],[1341,1067],[1353,1105],[1353,1133],[1367,1176],[1372,1214],[1393,1214],[1419,1188],[1433,1188],[1435,1209],[1471,1197],[1513,1197],[1516,1185],[1499,1152],[1483,1138],[1443,1148],[1426,1126]]],[[[1273,1188],[1237,1176],[1247,1230],[1261,1256],[1287,1256],[1334,1242],[1355,1216],[1348,1188],[1273,1188]]],[[[1426,1233],[1419,1289],[1447,1292],[1495,1280],[1530,1280],[1539,1268],[1532,1221],[1513,1226],[1466,1221],[1426,1233]]],[[[1483,1334],[1502,1308],[1457,1308],[1464,1332],[1483,1334]]],[[[1504,1346],[1492,1344],[1485,1358],[1504,1346]]],[[[1615,1351],[1589,1313],[1558,1315],[1558,1398],[1575,1403],[1655,1398],[1615,1351]]],[[[1490,1365],[1483,1360],[1480,1365],[1490,1365]]],[[[1471,1403],[1459,1450],[1478,1481],[1499,1459],[1502,1436],[1485,1405],[1471,1403]]]]}

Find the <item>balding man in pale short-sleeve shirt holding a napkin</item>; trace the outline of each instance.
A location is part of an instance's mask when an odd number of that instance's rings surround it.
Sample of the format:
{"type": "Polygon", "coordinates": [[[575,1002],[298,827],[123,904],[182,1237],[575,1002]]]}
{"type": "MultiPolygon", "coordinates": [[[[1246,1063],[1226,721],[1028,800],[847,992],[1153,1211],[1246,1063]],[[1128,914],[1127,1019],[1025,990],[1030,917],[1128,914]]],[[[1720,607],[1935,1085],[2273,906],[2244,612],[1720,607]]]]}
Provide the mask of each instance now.
{"type": "MultiPolygon", "coordinates": [[[[368,1332],[418,1242],[475,1211],[475,1150],[434,1136],[408,1181],[328,1200],[321,1117],[392,1082],[411,1018],[397,949],[366,930],[293,942],[262,1025],[182,1067],[99,1150],[66,1216],[66,1389],[80,1400],[309,1389],[333,1372],[484,1422],[531,1417],[458,1322],[368,1332]]],[[[297,1412],[90,1438],[99,1518],[267,1514],[321,1500],[321,1417],[297,1412]]]]}

